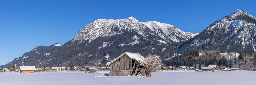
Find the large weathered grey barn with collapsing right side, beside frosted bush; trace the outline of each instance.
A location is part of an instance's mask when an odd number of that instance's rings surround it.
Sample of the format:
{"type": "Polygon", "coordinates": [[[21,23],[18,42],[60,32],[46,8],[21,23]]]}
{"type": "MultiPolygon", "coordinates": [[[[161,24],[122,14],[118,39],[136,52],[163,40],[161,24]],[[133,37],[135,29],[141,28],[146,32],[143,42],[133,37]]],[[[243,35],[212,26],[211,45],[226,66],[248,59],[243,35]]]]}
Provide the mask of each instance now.
{"type": "Polygon", "coordinates": [[[140,54],[125,52],[108,64],[109,76],[146,76],[148,71],[141,64],[144,60],[140,54]]]}

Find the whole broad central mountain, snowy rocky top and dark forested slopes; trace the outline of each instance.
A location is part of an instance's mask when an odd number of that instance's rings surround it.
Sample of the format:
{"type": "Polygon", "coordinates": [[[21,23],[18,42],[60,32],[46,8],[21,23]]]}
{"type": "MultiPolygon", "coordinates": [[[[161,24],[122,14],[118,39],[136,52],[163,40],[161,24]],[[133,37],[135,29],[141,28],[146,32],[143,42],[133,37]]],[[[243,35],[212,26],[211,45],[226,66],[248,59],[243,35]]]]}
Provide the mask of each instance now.
{"type": "Polygon", "coordinates": [[[107,54],[113,59],[124,52],[140,53],[143,56],[153,53],[166,59],[177,52],[175,47],[195,35],[173,25],[156,21],[140,22],[134,17],[98,19],[87,24],[60,48],[52,49],[24,64],[64,66],[71,61],[76,65],[106,64],[107,54]]]}

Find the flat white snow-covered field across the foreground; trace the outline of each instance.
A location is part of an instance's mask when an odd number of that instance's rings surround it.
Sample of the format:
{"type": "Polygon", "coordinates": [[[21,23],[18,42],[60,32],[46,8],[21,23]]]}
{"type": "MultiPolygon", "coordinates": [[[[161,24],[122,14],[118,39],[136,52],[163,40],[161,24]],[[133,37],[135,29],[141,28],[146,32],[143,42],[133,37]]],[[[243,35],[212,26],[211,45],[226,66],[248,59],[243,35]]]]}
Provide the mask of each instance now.
{"type": "Polygon", "coordinates": [[[109,71],[98,73],[72,72],[0,72],[0,85],[253,85],[256,71],[178,72],[166,70],[152,73],[152,77],[111,76],[109,71]],[[97,76],[97,77],[96,77],[97,76]]]}

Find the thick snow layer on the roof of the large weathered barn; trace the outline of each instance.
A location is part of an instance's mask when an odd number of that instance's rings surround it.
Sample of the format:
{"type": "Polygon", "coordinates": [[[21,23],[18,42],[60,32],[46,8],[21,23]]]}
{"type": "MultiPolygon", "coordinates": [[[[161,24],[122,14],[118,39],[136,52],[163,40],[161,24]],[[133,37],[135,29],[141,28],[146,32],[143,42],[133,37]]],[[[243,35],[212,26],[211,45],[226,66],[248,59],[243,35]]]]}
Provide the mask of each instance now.
{"type": "Polygon", "coordinates": [[[127,57],[129,57],[131,59],[135,59],[136,61],[138,61],[140,63],[145,60],[145,58],[143,56],[141,56],[139,53],[125,52],[121,56],[117,57],[115,60],[111,61],[108,65],[112,64],[113,62],[115,62],[116,60],[118,60],[119,58],[124,56],[125,54],[127,55],[127,57]]]}

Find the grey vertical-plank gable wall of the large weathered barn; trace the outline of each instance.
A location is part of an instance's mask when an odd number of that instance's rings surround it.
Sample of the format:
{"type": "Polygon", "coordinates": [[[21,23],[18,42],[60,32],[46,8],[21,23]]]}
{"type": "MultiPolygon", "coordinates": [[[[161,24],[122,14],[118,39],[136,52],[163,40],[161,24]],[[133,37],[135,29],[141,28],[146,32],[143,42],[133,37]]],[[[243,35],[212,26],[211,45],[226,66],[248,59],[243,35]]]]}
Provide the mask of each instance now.
{"type": "Polygon", "coordinates": [[[124,55],[110,65],[109,76],[127,76],[131,74],[132,59],[124,55]]]}

